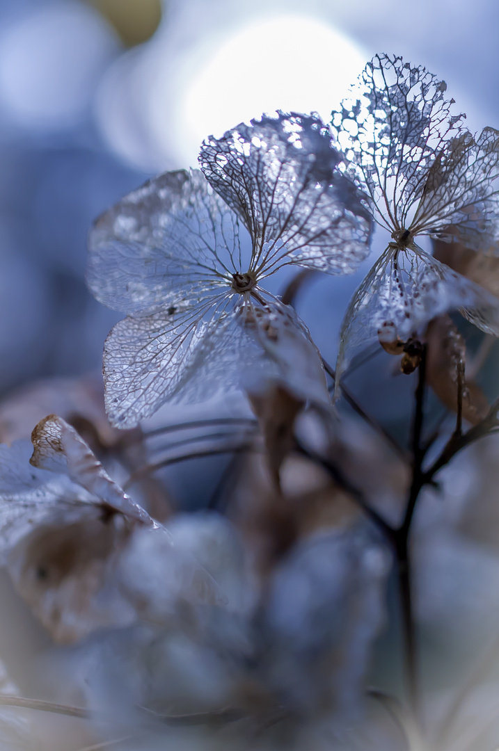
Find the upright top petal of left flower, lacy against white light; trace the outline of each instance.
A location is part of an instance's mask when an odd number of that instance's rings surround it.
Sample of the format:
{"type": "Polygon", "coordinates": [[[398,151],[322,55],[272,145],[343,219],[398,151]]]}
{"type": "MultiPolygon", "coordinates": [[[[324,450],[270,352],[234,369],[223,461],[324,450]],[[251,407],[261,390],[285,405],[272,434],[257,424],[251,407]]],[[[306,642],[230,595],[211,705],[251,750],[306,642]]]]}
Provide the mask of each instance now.
{"type": "Polygon", "coordinates": [[[249,230],[252,270],[349,273],[367,256],[370,216],[340,158],[313,115],[262,116],[204,142],[201,169],[249,230]]]}

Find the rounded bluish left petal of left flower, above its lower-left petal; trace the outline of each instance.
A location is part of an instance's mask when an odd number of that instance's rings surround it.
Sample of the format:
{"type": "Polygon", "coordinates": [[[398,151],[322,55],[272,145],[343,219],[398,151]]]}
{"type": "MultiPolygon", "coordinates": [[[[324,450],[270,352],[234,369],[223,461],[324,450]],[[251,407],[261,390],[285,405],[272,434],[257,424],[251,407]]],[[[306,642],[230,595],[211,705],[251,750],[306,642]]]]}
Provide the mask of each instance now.
{"type": "Polygon", "coordinates": [[[250,257],[246,229],[201,172],[168,172],[95,223],[87,282],[115,310],[173,313],[230,285],[250,257]]]}

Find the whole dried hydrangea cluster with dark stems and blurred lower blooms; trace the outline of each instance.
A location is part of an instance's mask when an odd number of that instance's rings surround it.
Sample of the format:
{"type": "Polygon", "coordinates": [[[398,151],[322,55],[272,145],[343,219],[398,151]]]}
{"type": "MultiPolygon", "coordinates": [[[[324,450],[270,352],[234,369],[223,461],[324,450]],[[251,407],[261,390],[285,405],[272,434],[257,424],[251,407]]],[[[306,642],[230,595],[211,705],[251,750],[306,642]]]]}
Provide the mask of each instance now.
{"type": "Polygon", "coordinates": [[[497,746],[499,131],[445,92],[375,56],[330,126],[241,123],[95,223],[89,287],[126,313],[109,422],[88,376],[0,405],[0,552],[59,645],[41,699],[0,674],[5,748],[66,748],[33,740],[47,712],[83,720],[82,749],[497,746]],[[358,270],[375,225],[332,369],[283,300],[358,270]],[[349,388],[370,349],[414,374],[407,448],[386,370],[370,409],[349,388]],[[171,491],[188,462],[201,513],[171,491]]]}

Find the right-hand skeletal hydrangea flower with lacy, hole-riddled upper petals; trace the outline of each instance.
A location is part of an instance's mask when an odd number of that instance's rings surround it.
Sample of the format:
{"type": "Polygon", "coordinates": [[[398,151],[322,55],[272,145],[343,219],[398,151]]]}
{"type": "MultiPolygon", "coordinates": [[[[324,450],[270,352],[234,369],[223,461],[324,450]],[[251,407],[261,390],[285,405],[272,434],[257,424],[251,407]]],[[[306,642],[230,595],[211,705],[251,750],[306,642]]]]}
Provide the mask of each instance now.
{"type": "Polygon", "coordinates": [[[490,251],[497,237],[499,131],[473,136],[463,116],[451,113],[445,91],[425,68],[377,55],[333,113],[347,172],[392,235],[346,311],[337,375],[369,340],[406,342],[451,310],[499,334],[497,300],[416,245],[419,235],[457,235],[464,246],[490,251]]]}

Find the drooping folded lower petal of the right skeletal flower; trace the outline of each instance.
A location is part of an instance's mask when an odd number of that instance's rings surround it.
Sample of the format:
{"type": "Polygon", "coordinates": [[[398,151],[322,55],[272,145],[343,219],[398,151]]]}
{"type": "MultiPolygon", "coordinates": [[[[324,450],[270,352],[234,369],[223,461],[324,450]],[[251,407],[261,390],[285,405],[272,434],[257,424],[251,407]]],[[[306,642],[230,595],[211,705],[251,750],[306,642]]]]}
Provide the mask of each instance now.
{"type": "Polygon", "coordinates": [[[391,338],[403,342],[432,318],[458,310],[486,333],[499,336],[499,303],[479,285],[417,246],[389,246],[355,292],[340,332],[338,385],[356,351],[391,338]]]}

